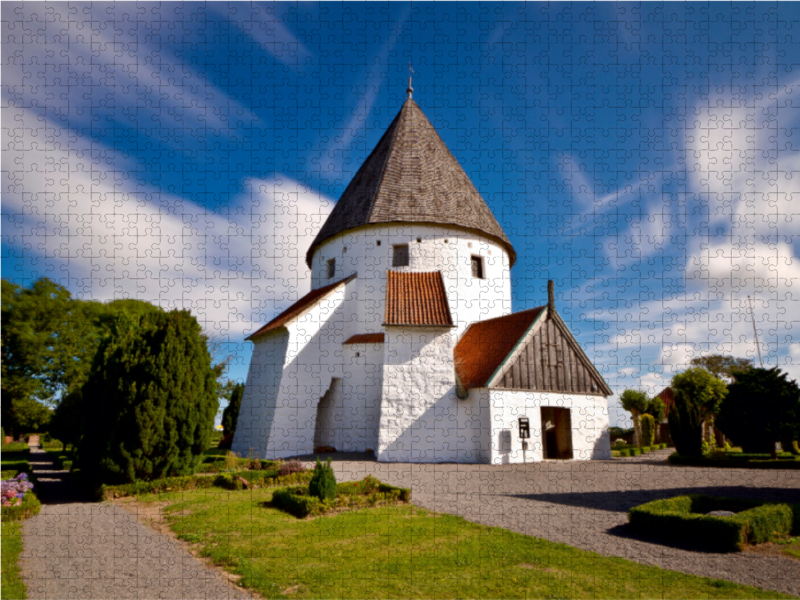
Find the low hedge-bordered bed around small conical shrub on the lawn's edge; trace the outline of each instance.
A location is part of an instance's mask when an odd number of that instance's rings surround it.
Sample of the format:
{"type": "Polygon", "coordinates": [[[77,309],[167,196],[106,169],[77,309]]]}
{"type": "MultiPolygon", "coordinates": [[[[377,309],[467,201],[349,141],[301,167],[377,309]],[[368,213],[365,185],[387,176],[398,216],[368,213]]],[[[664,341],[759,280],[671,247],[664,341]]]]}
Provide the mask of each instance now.
{"type": "Polygon", "coordinates": [[[302,519],[329,512],[340,512],[363,507],[394,505],[411,501],[411,490],[380,482],[372,475],[361,481],[336,484],[336,498],[320,500],[308,493],[308,486],[277,490],[272,495],[272,506],[302,519]]]}

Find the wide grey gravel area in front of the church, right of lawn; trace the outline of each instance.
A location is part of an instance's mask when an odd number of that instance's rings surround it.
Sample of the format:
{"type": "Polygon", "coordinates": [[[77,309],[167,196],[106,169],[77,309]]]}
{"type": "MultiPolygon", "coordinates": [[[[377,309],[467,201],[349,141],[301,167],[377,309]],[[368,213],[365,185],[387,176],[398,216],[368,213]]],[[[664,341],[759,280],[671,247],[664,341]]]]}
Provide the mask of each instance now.
{"type": "Polygon", "coordinates": [[[503,466],[377,463],[365,455],[332,456],[338,478],[373,474],[410,487],[414,504],[430,510],[607,556],[800,596],[800,561],[752,551],[702,552],[633,536],[628,509],[658,498],[707,493],[800,503],[800,471],[673,467],[666,462],[671,452],[503,466]]]}

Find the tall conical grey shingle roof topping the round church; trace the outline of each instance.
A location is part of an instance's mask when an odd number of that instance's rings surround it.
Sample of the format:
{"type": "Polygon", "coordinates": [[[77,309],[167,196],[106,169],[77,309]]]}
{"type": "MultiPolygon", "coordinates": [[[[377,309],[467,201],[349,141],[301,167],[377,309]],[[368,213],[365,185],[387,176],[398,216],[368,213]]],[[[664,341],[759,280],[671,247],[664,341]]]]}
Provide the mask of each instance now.
{"type": "Polygon", "coordinates": [[[306,254],[347,229],[433,223],[478,231],[516,253],[464,169],[411,98],[339,198],[306,254]]]}

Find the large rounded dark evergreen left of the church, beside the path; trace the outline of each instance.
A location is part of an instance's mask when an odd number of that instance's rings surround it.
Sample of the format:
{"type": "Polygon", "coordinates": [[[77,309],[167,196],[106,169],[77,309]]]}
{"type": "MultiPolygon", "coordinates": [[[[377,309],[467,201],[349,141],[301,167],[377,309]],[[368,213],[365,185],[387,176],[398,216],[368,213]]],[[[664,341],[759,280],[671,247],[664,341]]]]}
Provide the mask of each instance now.
{"type": "Polygon", "coordinates": [[[205,338],[188,311],[123,314],[82,389],[81,469],[104,482],[192,473],[211,439],[217,391],[205,338]]]}

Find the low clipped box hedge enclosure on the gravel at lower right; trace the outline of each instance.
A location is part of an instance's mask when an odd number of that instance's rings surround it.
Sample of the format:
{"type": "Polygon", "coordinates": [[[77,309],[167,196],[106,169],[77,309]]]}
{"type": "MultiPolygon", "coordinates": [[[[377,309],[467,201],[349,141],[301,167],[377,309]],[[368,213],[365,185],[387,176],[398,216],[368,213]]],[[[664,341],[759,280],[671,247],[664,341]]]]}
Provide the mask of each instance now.
{"type": "Polygon", "coordinates": [[[747,544],[800,534],[800,505],[692,494],[635,506],[628,520],[642,534],[736,552],[747,544]],[[718,510],[736,514],[708,514],[718,510]]]}

